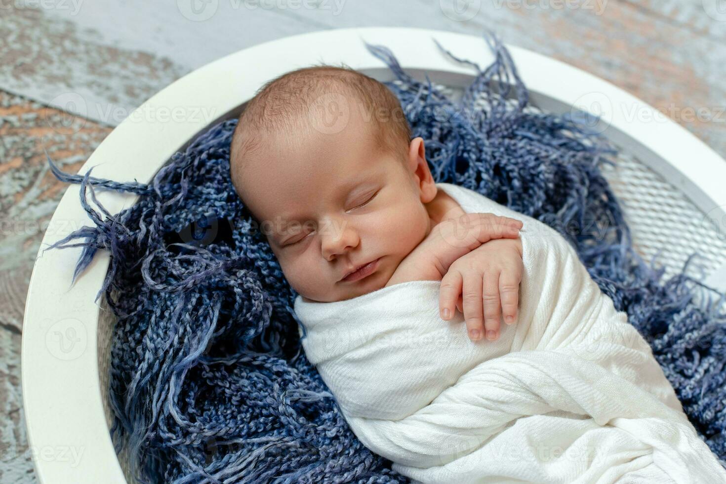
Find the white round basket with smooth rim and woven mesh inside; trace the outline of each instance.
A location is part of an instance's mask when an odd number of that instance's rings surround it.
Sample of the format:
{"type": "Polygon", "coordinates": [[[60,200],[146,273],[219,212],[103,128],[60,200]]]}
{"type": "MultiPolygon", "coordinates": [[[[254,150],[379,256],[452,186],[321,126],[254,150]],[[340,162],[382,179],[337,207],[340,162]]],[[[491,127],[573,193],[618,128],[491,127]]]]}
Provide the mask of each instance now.
{"type": "MultiPolygon", "coordinates": [[[[237,118],[245,102],[266,81],[319,62],[346,65],[380,81],[393,75],[364,41],[391,49],[401,67],[416,78],[454,91],[468,86],[473,67],[494,59],[483,37],[414,28],[352,28],[282,38],[244,49],[175,81],[139,109],[174,112],[184,108],[211,113],[155,119],[130,116],[95,150],[78,172],[116,181],[149,182],[175,152],[220,120],[237,118]]],[[[534,52],[507,46],[532,104],[550,112],[573,107],[600,115],[604,134],[624,156],[606,174],[623,202],[637,250],[658,259],[672,274],[685,258],[701,251],[706,283],[726,287],[726,161],[660,112],[600,78],[534,52]]],[[[136,195],[99,192],[99,202],[118,213],[136,195]]],[[[92,224],[69,186],[55,210],[44,247],[92,224]]],[[[107,403],[110,335],[113,319],[94,298],[105,277],[109,255],[97,253],[70,287],[80,248],[39,254],[30,278],[23,326],[23,401],[28,439],[38,480],[45,484],[126,483],[126,462],[116,456],[109,435],[107,403]],[[69,289],[70,287],[70,289],[69,289]]],[[[99,299],[102,301],[102,298],[99,299]]]]}

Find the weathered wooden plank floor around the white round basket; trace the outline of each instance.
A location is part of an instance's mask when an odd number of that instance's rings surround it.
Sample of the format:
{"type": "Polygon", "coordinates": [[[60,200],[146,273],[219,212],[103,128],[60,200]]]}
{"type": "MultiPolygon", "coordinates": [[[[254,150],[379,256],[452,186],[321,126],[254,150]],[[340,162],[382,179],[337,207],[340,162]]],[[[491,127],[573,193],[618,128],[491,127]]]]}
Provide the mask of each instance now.
{"type": "Polygon", "coordinates": [[[204,8],[67,0],[0,9],[1,483],[35,481],[20,393],[23,309],[43,224],[67,188],[48,173],[44,149],[77,171],[134,107],[206,62],[329,28],[489,29],[611,81],[726,156],[724,0],[189,1],[204,8]]]}

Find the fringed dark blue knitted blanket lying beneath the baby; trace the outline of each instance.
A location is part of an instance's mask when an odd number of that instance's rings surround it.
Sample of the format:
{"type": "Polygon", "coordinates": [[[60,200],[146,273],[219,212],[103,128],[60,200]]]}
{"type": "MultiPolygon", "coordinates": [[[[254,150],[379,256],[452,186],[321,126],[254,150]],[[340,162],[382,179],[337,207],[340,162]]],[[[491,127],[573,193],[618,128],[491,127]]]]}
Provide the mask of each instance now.
{"type": "MultiPolygon", "coordinates": [[[[700,284],[684,274],[688,262],[664,280],[662,269],[634,252],[600,173],[616,150],[586,123],[531,106],[505,47],[486,41],[494,62],[484,69],[442,48],[476,69],[457,102],[428,77],[409,77],[385,47],[367,47],[396,75],[399,82],[387,85],[413,136],[425,140],[434,179],[566,237],[651,345],[690,421],[723,462],[724,298],[715,291],[694,298],[700,284]]],[[[73,281],[97,250],[111,255],[96,298],[105,295],[118,320],[108,395],[116,449],[128,453],[142,483],[407,482],[356,439],[301,350],[296,294],[229,179],[236,123],[208,128],[150,184],[97,179],[91,169],[70,175],[48,158],[58,179],[81,184],[93,222],[48,248],[83,247],[73,281]],[[134,192],[139,201],[112,215],[94,186],[134,192]]]]}

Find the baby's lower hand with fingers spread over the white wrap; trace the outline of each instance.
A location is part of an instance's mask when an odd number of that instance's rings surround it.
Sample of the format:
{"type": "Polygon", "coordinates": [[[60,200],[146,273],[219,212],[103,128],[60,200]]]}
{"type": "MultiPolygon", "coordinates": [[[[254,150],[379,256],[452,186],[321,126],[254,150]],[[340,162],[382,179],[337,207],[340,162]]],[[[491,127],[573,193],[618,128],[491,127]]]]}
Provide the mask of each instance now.
{"type": "Polygon", "coordinates": [[[464,313],[471,340],[481,339],[482,326],[486,339],[496,340],[502,313],[507,324],[517,317],[523,271],[521,239],[490,240],[463,255],[441,280],[441,319],[451,319],[456,305],[464,313]]]}

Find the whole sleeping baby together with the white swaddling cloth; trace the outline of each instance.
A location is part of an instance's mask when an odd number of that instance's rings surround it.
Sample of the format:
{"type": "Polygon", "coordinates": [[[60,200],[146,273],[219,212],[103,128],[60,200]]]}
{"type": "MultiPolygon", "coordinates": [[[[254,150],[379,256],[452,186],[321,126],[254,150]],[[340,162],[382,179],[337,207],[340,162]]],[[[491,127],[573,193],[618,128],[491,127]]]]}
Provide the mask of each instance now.
{"type": "Polygon", "coordinates": [[[534,218],[434,183],[423,139],[382,83],[330,66],[270,81],[240,116],[230,176],[298,292],[307,358],[396,472],[726,482],[574,248],[534,218]]]}

